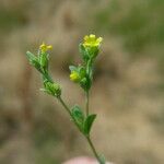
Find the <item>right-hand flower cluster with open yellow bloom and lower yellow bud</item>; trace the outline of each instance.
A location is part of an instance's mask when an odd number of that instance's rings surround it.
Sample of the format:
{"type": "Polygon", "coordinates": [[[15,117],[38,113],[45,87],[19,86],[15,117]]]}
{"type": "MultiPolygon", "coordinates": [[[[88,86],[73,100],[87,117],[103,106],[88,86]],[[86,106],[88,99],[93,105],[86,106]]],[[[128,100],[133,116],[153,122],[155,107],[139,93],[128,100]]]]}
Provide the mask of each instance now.
{"type": "Polygon", "coordinates": [[[89,91],[93,79],[93,63],[96,58],[103,38],[96,38],[95,35],[84,36],[83,43],[80,44],[80,52],[83,59],[83,66],[70,66],[70,80],[79,83],[84,91],[89,91]]]}

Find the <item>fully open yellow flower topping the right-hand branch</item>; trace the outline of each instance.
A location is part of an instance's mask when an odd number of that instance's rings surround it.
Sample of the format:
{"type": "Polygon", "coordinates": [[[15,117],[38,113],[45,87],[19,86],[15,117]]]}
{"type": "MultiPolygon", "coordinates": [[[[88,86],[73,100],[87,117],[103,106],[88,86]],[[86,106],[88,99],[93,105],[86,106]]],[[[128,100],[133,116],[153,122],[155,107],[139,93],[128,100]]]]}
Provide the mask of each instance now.
{"type": "Polygon", "coordinates": [[[91,35],[86,35],[84,37],[84,43],[83,43],[83,46],[84,47],[98,47],[102,43],[103,38],[102,37],[98,37],[96,38],[95,35],[91,34],[91,35]]]}

